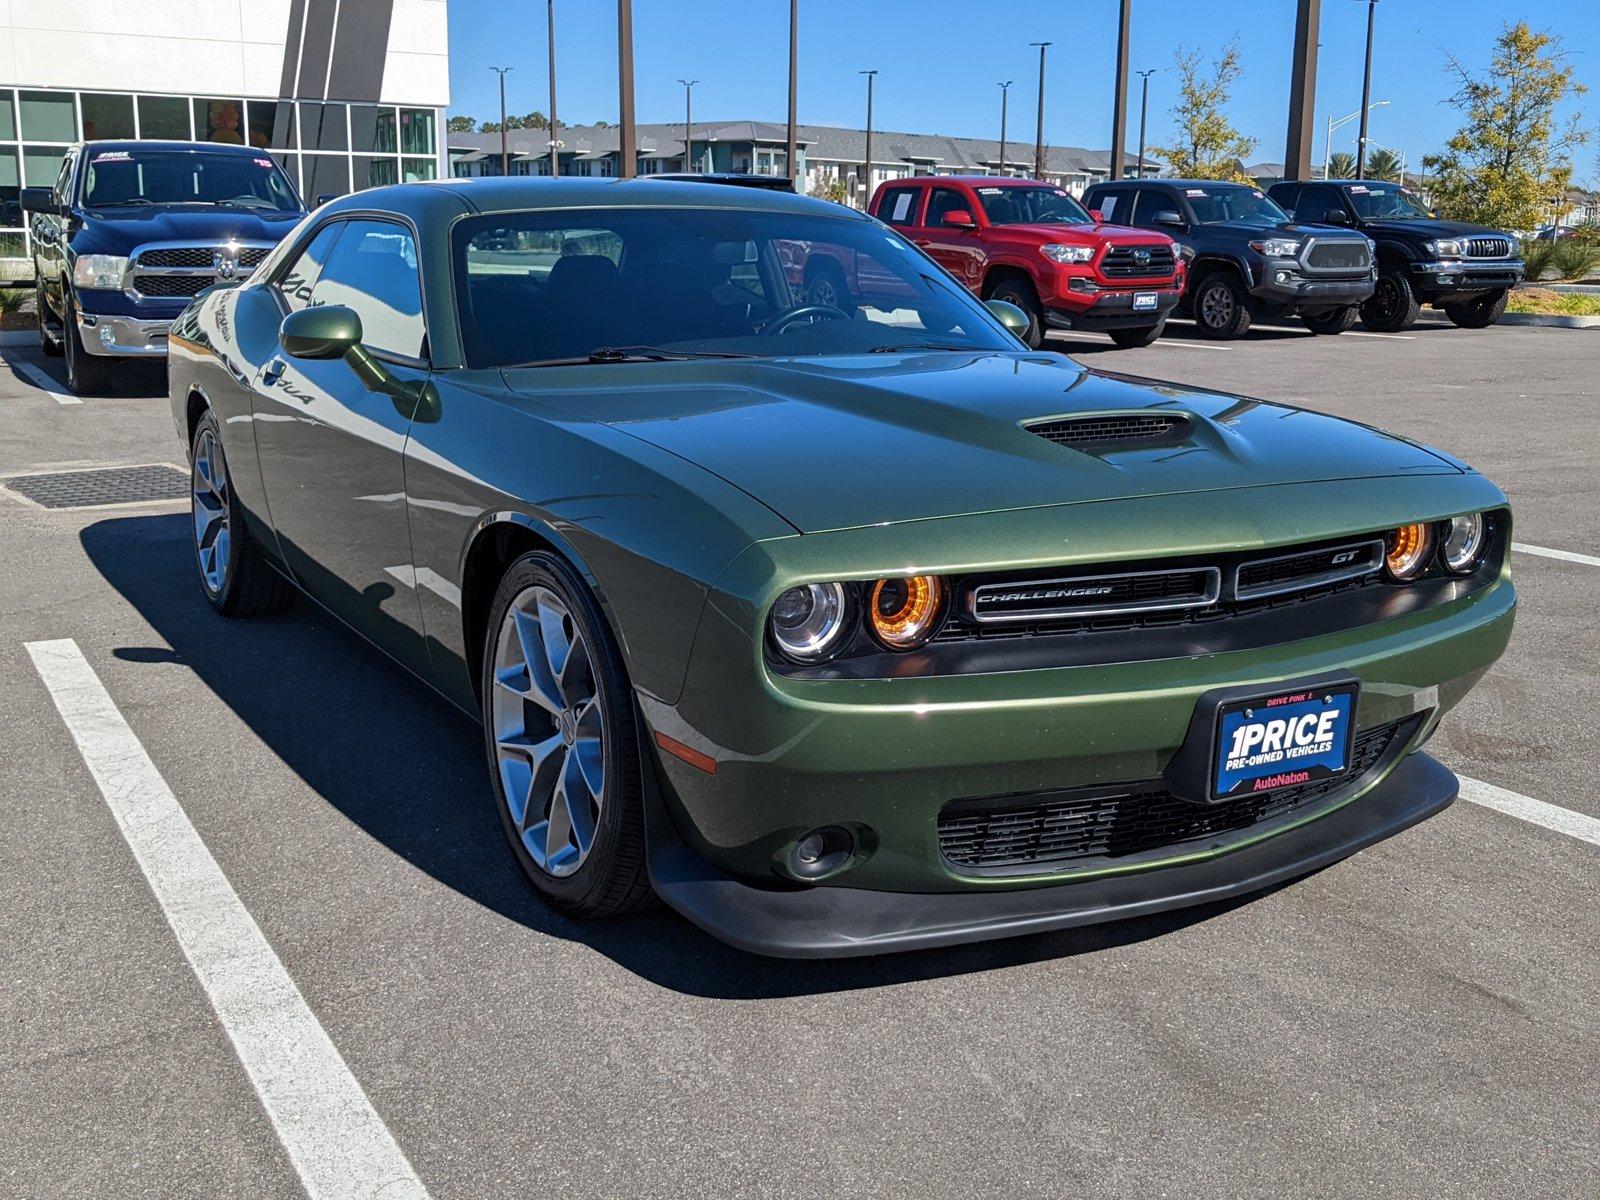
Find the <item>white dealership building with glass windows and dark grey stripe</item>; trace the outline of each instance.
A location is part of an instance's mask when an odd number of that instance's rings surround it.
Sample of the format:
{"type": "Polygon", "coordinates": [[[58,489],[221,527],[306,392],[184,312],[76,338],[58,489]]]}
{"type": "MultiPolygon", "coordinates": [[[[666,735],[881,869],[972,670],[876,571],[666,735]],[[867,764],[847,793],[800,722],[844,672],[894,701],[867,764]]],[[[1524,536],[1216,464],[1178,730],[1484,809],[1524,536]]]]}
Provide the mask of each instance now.
{"type": "Polygon", "coordinates": [[[94,138],[258,146],[307,200],[446,174],[446,0],[0,0],[0,275],[94,138]]]}

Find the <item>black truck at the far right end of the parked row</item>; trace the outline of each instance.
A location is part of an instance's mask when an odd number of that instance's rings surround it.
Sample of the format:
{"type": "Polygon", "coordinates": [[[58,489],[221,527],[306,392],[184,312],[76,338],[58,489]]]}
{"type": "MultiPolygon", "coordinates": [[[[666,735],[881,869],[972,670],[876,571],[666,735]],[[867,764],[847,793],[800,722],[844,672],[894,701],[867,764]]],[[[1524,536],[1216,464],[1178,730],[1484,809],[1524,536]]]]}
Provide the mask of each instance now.
{"type": "Polygon", "coordinates": [[[1402,184],[1285,179],[1269,195],[1301,221],[1346,226],[1378,245],[1378,290],[1362,306],[1370,330],[1408,330],[1424,304],[1443,309],[1464,330],[1482,330],[1501,318],[1507,293],[1522,282],[1515,237],[1440,221],[1402,184]]]}

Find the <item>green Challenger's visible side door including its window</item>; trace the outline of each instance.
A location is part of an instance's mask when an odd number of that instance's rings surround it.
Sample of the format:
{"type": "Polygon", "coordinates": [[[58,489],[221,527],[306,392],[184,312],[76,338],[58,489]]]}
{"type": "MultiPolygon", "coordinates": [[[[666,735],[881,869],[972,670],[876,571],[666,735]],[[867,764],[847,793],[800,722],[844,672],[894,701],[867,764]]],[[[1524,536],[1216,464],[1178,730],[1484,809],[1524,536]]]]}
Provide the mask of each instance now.
{"type": "MultiPolygon", "coordinates": [[[[427,382],[416,240],[408,226],[325,226],[274,280],[286,315],[344,304],[400,384],[427,382]]],[[[315,600],[402,664],[426,662],[405,491],[410,402],[371,392],[341,358],[272,355],[254,378],[256,446],[283,562],[315,600]]]]}

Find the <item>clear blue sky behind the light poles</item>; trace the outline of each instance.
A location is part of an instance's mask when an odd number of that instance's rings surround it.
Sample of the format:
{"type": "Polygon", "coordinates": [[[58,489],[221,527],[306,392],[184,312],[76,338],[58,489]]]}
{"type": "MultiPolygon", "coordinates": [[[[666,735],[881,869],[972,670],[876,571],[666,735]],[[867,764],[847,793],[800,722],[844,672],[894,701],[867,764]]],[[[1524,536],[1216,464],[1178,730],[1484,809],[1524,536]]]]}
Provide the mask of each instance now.
{"type": "MultiPolygon", "coordinates": [[[[856,125],[864,120],[864,82],[877,67],[874,125],[882,130],[998,136],[1000,90],[1011,78],[1011,136],[1032,139],[1037,51],[1050,40],[1045,136],[1059,144],[1104,147],[1110,141],[1112,54],[1117,0],[802,0],[800,120],[856,125]]],[[[1237,37],[1245,59],[1230,107],[1235,123],[1259,138],[1254,158],[1280,160],[1290,80],[1294,0],[1226,5],[1202,0],[1134,0],[1133,69],[1150,77],[1150,142],[1171,130],[1178,46],[1208,53],[1237,37]]],[[[1366,5],[1323,0],[1317,83],[1317,141],[1326,117],[1362,102],[1366,5]]],[[[494,118],[496,77],[512,66],[507,107],[544,110],[544,0],[450,0],[451,112],[494,118]]],[[[1600,0],[1381,0],[1373,66],[1371,138],[1418,162],[1456,128],[1442,101],[1453,91],[1446,50],[1482,66],[1502,21],[1526,16],[1562,34],[1590,94],[1568,106],[1600,128],[1600,0]]],[[[781,122],[786,115],[787,0],[634,0],[638,118],[683,120],[678,78],[698,78],[694,117],[781,122]]],[[[560,117],[616,118],[616,5],[557,0],[560,117]]],[[[1138,80],[1134,80],[1138,83],[1138,80]]],[[[1130,149],[1138,138],[1131,99],[1130,149]]],[[[1355,149],[1355,122],[1334,134],[1334,150],[1355,149]]],[[[1600,141],[1600,139],[1597,139],[1600,141]]],[[[1579,179],[1600,176],[1597,147],[1579,158],[1579,179]]]]}

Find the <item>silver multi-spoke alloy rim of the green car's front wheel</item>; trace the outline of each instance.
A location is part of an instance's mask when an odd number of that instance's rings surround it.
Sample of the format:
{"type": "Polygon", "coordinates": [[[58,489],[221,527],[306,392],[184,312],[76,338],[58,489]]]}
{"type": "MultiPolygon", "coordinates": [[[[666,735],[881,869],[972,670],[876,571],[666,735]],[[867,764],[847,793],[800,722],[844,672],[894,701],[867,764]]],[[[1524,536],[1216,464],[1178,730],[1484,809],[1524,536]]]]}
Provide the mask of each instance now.
{"type": "Polygon", "coordinates": [[[605,803],[605,710],[594,658],[549,587],[523,589],[494,646],[496,768],[528,856],[550,875],[589,858],[605,803]]]}

